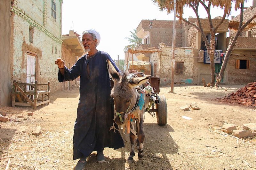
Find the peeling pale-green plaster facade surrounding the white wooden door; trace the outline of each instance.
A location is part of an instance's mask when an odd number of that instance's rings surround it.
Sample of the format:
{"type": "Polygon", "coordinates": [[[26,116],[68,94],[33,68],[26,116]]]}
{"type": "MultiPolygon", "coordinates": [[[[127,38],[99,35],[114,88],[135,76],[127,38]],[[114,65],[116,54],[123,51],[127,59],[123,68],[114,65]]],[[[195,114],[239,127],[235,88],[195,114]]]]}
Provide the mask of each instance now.
{"type": "Polygon", "coordinates": [[[55,60],[61,57],[62,1],[55,0],[56,20],[51,15],[51,0],[15,0],[11,17],[11,83],[26,82],[27,53],[36,55],[36,80],[50,81],[51,92],[62,89],[55,60]],[[33,10],[31,10],[33,9],[33,10]],[[30,42],[30,29],[33,41],[30,42]]]}

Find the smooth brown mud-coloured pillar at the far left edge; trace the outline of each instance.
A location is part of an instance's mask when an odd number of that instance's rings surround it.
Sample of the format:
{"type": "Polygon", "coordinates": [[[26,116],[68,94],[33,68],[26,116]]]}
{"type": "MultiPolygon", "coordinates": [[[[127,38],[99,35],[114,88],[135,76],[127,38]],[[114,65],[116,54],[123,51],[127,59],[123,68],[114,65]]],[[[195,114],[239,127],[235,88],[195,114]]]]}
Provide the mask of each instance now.
{"type": "Polygon", "coordinates": [[[11,104],[11,1],[0,5],[0,105],[11,104]]]}

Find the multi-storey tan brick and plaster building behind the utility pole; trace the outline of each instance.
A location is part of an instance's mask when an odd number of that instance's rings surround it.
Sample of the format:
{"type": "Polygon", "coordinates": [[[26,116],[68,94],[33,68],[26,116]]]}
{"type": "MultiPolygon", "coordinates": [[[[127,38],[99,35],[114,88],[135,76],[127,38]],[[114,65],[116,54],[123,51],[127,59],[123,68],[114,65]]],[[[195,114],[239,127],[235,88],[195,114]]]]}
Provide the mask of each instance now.
{"type": "MultiPolygon", "coordinates": [[[[197,24],[196,18],[188,18],[192,23],[197,24]]],[[[200,18],[204,33],[210,40],[210,27],[208,19],[200,18]]],[[[219,18],[212,19],[213,24],[217,24],[219,18]]],[[[142,20],[137,27],[137,36],[142,38],[143,44],[136,50],[148,50],[159,47],[158,52],[144,54],[150,58],[151,75],[161,78],[161,85],[171,83],[171,50],[173,21],[142,20]],[[149,23],[152,22],[151,28],[149,23]],[[160,43],[160,45],[159,45],[160,43]]],[[[228,32],[228,20],[225,19],[220,25],[216,36],[216,51],[220,55],[226,50],[226,33],[228,32]]],[[[176,22],[176,46],[175,51],[175,76],[174,82],[184,82],[186,84],[200,84],[204,77],[206,81],[211,80],[210,63],[205,60],[207,51],[200,32],[195,27],[185,22],[176,22]],[[204,57],[205,56],[205,57],[204,57]]],[[[221,58],[219,57],[219,60],[221,58]]],[[[216,72],[220,69],[220,61],[216,61],[216,72]]]]}

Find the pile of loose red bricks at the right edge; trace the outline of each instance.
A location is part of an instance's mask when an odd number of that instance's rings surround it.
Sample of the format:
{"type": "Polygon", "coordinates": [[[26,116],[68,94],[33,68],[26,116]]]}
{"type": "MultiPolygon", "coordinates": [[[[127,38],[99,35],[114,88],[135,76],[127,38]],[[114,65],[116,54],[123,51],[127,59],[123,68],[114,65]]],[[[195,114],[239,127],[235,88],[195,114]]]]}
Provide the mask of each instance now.
{"type": "Polygon", "coordinates": [[[234,100],[245,106],[256,106],[256,82],[248,83],[246,86],[240,88],[236,92],[232,92],[225,97],[224,100],[234,100]]]}

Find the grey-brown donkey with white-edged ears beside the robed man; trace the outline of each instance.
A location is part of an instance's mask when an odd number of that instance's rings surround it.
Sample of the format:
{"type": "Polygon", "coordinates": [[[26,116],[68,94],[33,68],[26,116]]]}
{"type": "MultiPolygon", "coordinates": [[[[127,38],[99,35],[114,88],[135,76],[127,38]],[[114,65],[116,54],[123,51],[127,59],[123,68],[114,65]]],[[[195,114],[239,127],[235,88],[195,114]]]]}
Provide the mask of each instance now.
{"type": "MultiPolygon", "coordinates": [[[[130,74],[127,72],[121,72],[118,73],[114,66],[111,64],[109,60],[107,60],[108,63],[108,71],[114,81],[114,87],[111,90],[111,97],[114,98],[114,105],[116,112],[118,112],[121,115],[117,116],[115,118],[115,122],[118,125],[124,124],[121,120],[124,120],[125,114],[130,112],[132,108],[134,109],[136,107],[136,102],[139,100],[138,99],[138,92],[136,90],[136,87],[139,85],[142,85],[146,83],[149,80],[149,76],[146,77],[138,77],[135,76],[134,74],[130,74]]],[[[142,108],[142,110],[139,110],[139,118],[135,118],[136,120],[136,136],[137,138],[137,148],[139,149],[138,157],[139,159],[143,159],[144,153],[143,153],[143,143],[145,139],[145,134],[144,134],[144,127],[143,127],[143,122],[144,122],[144,114],[145,110],[149,104],[149,96],[146,96],[145,98],[145,104],[142,108]]],[[[134,129],[133,127],[133,122],[130,122],[130,127],[131,127],[131,132],[134,129]]],[[[134,131],[134,130],[133,130],[134,131]]],[[[130,133],[130,142],[131,142],[131,152],[130,156],[128,158],[128,163],[133,162],[133,157],[135,156],[134,152],[134,143],[136,140],[136,136],[133,133],[130,133]]]]}

